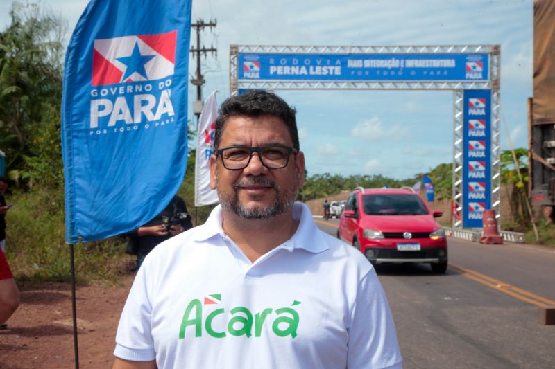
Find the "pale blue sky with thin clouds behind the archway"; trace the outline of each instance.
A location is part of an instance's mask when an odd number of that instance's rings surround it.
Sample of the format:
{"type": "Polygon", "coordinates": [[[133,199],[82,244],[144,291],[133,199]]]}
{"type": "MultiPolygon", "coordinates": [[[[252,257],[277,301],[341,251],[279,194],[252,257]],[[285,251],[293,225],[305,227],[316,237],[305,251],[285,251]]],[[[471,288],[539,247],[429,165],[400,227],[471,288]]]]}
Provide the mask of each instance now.
{"type": "MultiPolygon", "coordinates": [[[[11,1],[0,2],[0,30],[11,1]]],[[[42,0],[67,20],[69,41],[86,0],[42,0]]],[[[502,150],[527,147],[532,96],[533,0],[193,0],[201,33],[203,98],[230,96],[230,44],[306,46],[501,45],[502,150]]],[[[196,34],[191,32],[191,46],[196,34]]],[[[196,60],[190,60],[191,77],[196,60]]],[[[309,176],[381,174],[406,179],[452,163],[452,91],[275,90],[297,109],[309,176]]],[[[189,85],[189,116],[196,88],[189,85]]],[[[189,143],[194,145],[194,143],[189,143]]]]}

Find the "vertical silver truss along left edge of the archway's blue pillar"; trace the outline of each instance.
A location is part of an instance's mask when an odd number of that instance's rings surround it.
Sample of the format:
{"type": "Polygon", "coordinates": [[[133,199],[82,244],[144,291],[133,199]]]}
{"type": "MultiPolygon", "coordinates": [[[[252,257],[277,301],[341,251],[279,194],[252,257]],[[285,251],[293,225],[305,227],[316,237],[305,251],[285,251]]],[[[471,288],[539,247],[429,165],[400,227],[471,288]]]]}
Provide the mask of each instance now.
{"type": "Polygon", "coordinates": [[[453,201],[456,209],[451,214],[453,228],[463,226],[463,93],[461,89],[453,91],[453,201]]]}

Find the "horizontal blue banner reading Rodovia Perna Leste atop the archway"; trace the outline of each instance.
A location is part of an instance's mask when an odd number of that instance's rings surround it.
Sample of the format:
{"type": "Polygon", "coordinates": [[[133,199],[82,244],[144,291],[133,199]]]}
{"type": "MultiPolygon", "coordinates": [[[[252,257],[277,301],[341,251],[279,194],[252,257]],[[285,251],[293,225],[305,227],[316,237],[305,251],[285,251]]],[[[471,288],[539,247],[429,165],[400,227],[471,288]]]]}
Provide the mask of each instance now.
{"type": "Polygon", "coordinates": [[[239,53],[239,80],[484,81],[487,53],[239,53]]]}

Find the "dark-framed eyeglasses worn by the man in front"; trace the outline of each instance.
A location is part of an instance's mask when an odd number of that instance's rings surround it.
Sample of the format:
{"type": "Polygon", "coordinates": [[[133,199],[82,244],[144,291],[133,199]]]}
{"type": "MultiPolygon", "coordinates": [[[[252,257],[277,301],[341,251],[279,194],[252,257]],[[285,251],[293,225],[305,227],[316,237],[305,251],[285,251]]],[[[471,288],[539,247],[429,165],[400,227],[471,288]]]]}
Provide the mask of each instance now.
{"type": "Polygon", "coordinates": [[[291,152],[296,154],[297,149],[284,145],[268,146],[230,146],[216,150],[216,154],[221,157],[221,162],[226,169],[244,169],[248,167],[253,153],[257,152],[266,168],[280,169],[287,167],[291,152]]]}

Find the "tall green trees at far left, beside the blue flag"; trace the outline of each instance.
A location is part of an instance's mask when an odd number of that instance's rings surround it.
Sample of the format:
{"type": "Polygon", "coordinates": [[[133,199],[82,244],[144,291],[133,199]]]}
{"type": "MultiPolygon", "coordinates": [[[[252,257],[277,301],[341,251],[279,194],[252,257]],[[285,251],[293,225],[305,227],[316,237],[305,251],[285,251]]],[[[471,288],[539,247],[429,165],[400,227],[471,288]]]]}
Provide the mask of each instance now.
{"type": "MultiPolygon", "coordinates": [[[[13,3],[10,17],[0,33],[0,146],[8,170],[20,174],[26,159],[40,154],[33,143],[44,141],[44,125],[60,126],[66,28],[60,17],[33,3],[13,3]]],[[[46,131],[59,141],[59,128],[46,131]]]]}

